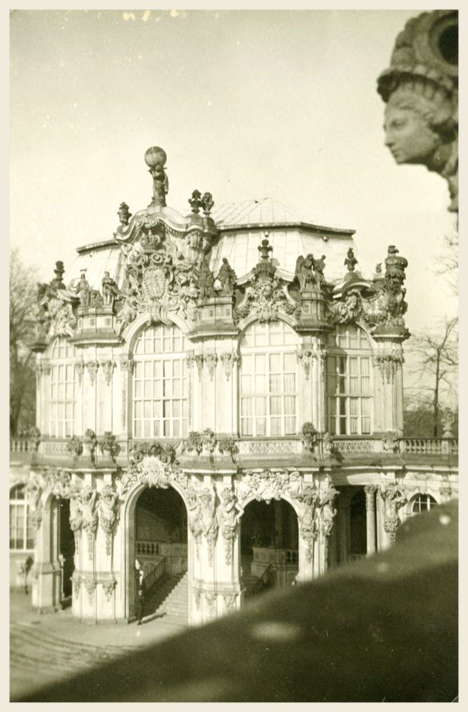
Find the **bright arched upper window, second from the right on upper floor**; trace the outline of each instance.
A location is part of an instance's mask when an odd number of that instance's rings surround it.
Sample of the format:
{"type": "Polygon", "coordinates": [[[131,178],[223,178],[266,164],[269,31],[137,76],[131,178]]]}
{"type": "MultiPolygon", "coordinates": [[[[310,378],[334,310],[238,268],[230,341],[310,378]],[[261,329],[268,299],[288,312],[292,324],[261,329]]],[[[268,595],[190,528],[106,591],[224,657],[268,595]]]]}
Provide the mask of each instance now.
{"type": "Polygon", "coordinates": [[[241,435],[296,435],[296,333],[284,321],[254,321],[241,339],[241,435]]]}

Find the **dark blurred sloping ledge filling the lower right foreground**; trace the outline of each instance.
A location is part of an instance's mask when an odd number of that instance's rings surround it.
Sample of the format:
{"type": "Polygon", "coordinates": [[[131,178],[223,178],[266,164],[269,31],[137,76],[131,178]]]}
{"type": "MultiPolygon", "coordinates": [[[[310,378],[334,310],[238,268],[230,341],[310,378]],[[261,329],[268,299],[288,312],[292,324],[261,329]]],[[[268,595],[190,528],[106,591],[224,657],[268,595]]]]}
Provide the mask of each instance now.
{"type": "Polygon", "coordinates": [[[13,701],[454,701],[457,524],[437,507],[388,552],[13,701]]]}

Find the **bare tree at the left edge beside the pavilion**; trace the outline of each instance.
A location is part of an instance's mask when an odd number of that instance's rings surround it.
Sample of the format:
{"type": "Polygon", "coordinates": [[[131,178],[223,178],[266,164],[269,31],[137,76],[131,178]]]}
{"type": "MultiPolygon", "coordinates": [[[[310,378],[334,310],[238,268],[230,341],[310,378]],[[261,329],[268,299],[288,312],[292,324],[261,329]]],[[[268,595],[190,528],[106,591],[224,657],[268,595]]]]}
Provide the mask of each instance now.
{"type": "Polygon", "coordinates": [[[35,423],[36,374],[33,336],[36,271],[26,267],[14,250],[10,255],[10,435],[35,423]]]}

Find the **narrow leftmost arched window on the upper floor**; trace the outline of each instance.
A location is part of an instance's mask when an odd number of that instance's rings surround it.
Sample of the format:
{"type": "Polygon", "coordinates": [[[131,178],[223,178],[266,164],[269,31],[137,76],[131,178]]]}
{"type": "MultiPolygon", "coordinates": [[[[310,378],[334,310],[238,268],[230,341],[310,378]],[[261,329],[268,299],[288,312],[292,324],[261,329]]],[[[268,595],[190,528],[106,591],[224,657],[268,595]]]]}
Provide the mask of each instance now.
{"type": "Polygon", "coordinates": [[[76,411],[76,349],[66,339],[53,342],[51,351],[51,420],[52,438],[73,435],[76,411]]]}

